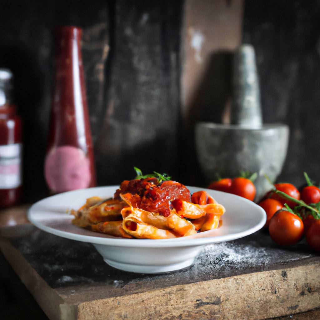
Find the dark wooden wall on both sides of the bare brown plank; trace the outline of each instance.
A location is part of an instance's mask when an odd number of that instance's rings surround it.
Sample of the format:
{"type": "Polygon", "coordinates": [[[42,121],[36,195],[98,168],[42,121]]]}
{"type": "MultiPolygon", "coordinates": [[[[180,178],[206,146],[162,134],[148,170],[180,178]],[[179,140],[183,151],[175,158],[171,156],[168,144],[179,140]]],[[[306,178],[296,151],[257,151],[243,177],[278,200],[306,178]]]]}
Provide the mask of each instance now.
{"type": "MultiPolygon", "coordinates": [[[[25,123],[28,201],[47,195],[43,162],[51,104],[51,29],[57,24],[84,28],[99,184],[132,177],[133,165],[169,172],[188,183],[179,164],[185,161],[179,147],[182,14],[183,0],[0,1],[0,66],[16,76],[25,123]]],[[[265,122],[291,127],[280,180],[300,183],[304,170],[315,179],[320,175],[319,20],[320,0],[244,4],[243,41],[257,51],[265,122]]]]}

